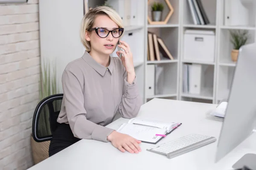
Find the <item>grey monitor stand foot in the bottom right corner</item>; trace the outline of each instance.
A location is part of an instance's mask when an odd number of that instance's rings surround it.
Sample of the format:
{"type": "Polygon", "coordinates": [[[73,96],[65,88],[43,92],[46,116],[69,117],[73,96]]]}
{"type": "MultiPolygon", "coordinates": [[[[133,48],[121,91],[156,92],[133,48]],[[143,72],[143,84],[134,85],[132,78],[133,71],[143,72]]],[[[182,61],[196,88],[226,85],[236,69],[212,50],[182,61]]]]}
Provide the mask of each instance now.
{"type": "Polygon", "coordinates": [[[241,169],[244,166],[249,168],[250,170],[256,170],[256,154],[247,153],[241,159],[239,159],[234,165],[233,168],[235,170],[241,169]]]}

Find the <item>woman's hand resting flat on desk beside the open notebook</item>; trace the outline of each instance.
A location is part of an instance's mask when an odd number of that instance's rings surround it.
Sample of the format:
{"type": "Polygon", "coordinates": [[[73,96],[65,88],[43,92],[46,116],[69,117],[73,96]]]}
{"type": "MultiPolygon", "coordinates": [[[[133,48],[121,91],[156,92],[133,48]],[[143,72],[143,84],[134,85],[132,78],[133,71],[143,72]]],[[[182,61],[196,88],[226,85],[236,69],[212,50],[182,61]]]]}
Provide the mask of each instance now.
{"type": "Polygon", "coordinates": [[[141,141],[115,130],[108,136],[108,141],[122,152],[127,150],[130,153],[139,153],[141,151],[139,146],[141,141]]]}

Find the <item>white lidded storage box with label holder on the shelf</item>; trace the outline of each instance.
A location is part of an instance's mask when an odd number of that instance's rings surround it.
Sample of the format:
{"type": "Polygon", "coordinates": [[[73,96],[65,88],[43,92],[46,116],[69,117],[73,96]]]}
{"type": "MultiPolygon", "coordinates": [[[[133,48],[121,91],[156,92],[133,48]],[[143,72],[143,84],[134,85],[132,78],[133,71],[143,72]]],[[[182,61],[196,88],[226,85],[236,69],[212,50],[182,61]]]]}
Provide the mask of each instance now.
{"type": "Polygon", "coordinates": [[[186,30],[184,34],[183,59],[189,61],[214,62],[214,31],[186,30]]]}

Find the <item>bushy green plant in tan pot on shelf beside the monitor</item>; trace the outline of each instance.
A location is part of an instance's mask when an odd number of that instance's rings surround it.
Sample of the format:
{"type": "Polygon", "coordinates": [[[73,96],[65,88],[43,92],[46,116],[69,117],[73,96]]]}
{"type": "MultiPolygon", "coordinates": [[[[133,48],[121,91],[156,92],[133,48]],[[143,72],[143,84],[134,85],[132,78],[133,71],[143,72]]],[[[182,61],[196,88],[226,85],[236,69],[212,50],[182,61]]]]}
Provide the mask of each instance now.
{"type": "Polygon", "coordinates": [[[238,30],[238,31],[230,31],[231,35],[231,43],[233,45],[233,50],[231,51],[231,59],[236,62],[239,54],[239,48],[248,40],[248,31],[247,30],[238,30]]]}

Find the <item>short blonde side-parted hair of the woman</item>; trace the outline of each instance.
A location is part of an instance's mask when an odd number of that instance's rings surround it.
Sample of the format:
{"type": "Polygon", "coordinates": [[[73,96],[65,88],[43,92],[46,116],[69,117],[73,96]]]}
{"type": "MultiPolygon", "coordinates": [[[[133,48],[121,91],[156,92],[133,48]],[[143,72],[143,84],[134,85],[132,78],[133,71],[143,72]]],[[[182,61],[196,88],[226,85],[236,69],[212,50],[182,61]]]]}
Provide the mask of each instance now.
{"type": "Polygon", "coordinates": [[[108,6],[99,6],[90,9],[82,19],[80,30],[80,39],[87,52],[90,52],[91,45],[90,42],[85,39],[85,33],[87,30],[90,30],[90,28],[93,27],[94,19],[97,15],[107,15],[108,17],[110,17],[111,20],[113,20],[113,22],[115,22],[119,26],[119,28],[123,28],[122,19],[113,8],[110,8],[108,6]]]}

